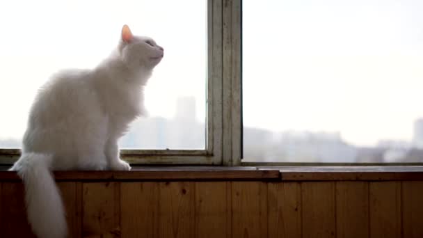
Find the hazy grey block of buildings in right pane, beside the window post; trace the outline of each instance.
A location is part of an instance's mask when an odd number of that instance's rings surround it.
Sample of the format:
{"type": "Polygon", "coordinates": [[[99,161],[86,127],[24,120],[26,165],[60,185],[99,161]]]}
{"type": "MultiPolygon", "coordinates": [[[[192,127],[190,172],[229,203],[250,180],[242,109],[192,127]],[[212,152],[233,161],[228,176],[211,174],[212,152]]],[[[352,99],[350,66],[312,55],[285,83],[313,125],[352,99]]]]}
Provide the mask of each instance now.
{"type": "Polygon", "coordinates": [[[356,156],[356,148],[337,132],[275,133],[244,127],[246,161],[353,163],[356,156]]]}

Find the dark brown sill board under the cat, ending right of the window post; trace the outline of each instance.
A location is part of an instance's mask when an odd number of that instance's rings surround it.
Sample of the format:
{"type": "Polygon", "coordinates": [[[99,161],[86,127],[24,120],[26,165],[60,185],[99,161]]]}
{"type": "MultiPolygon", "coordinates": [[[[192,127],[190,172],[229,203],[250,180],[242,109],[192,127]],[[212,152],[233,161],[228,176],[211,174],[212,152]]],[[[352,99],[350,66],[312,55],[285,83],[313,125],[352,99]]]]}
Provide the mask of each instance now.
{"type": "MultiPolygon", "coordinates": [[[[55,171],[56,181],[169,181],[169,180],[280,180],[278,170],[225,167],[133,167],[131,171],[55,171]]],[[[16,172],[0,171],[0,181],[20,181],[16,172]]]]}

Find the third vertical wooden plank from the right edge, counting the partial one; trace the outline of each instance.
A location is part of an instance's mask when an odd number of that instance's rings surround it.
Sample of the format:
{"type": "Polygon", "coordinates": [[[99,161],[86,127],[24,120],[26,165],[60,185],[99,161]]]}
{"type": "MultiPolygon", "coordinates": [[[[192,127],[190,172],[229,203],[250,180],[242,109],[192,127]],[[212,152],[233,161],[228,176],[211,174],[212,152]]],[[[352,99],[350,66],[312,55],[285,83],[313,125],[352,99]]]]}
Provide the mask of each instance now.
{"type": "Polygon", "coordinates": [[[336,182],[335,196],[337,237],[369,237],[369,184],[336,182]]]}

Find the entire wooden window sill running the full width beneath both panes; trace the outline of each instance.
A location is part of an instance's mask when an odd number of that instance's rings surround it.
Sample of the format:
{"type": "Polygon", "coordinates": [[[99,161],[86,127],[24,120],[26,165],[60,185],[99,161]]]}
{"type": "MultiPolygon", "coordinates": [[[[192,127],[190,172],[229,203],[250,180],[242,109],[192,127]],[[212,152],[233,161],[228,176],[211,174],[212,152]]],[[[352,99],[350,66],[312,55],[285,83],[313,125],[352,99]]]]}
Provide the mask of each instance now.
{"type": "MultiPolygon", "coordinates": [[[[20,181],[15,172],[0,168],[0,181],[20,181]]],[[[423,166],[134,166],[131,171],[56,171],[57,181],[392,181],[423,180],[423,166]]]]}

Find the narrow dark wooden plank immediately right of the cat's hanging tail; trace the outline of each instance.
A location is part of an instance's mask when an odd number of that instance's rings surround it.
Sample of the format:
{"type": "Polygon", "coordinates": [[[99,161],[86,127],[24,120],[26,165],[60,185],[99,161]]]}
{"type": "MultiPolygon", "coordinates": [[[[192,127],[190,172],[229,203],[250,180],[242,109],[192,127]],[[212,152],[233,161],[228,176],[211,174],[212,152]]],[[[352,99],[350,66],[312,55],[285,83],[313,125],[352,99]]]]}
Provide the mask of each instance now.
{"type": "Polygon", "coordinates": [[[81,237],[81,182],[58,182],[70,237],[81,237]]]}

